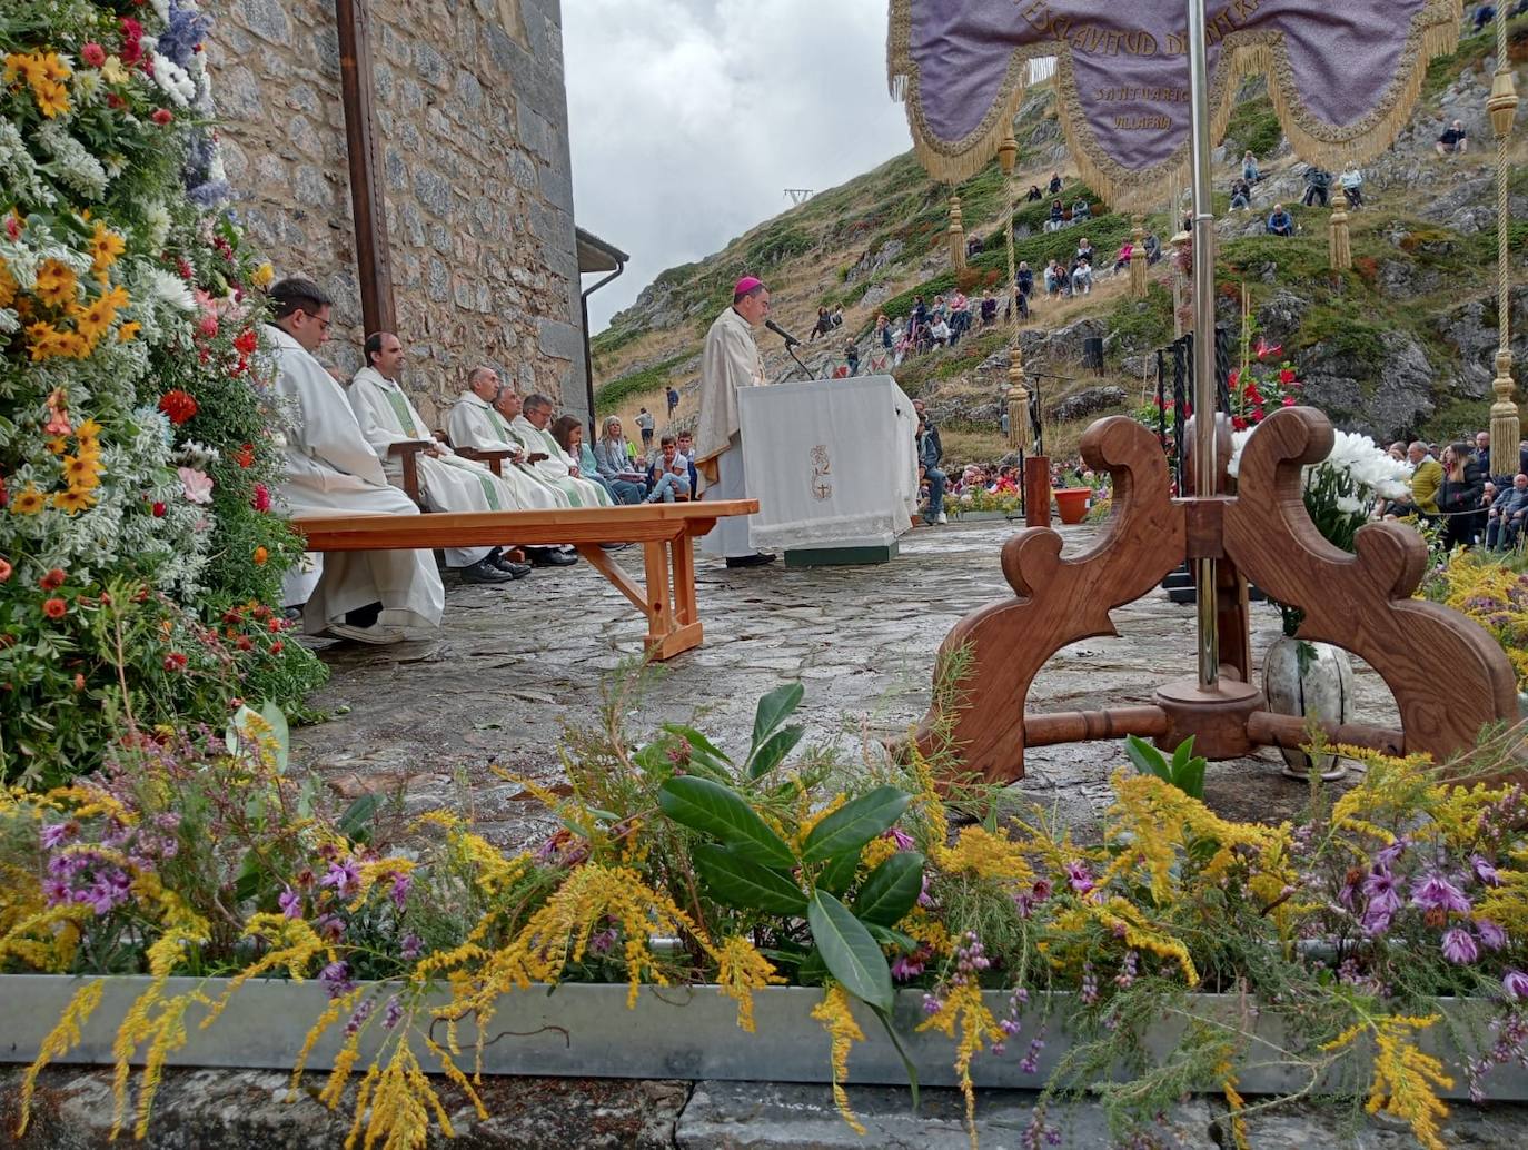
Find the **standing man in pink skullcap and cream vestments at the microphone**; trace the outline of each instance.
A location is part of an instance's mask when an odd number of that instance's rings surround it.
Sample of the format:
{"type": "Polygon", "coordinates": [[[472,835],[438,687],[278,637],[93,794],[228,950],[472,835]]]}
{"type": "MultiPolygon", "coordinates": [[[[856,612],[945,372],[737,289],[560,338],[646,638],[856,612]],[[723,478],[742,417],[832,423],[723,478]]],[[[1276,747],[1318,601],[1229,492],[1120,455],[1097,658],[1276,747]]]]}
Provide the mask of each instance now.
{"type": "MultiPolygon", "coordinates": [[[[695,470],[707,499],[749,499],[743,472],[738,388],[764,385],[764,357],[753,328],[769,315],[769,289],[752,275],[738,279],[732,305],[706,333],[700,357],[700,423],[695,429],[695,470]]],[[[749,516],[732,515],[701,536],[700,550],[726,557],[727,567],[762,567],[775,556],[749,542],[749,516]]]]}

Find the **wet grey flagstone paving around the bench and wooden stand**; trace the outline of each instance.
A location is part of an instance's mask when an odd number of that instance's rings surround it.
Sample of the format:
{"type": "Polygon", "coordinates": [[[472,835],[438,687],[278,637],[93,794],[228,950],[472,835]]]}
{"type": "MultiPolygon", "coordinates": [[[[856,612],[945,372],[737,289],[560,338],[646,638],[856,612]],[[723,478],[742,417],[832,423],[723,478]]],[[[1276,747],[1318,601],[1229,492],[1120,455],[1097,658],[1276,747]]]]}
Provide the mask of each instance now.
{"type": "MultiPolygon", "coordinates": [[[[903,733],[927,709],[934,654],[966,612],[1007,593],[998,564],[1002,522],[920,528],[885,567],[729,571],[701,559],[700,611],[706,643],[672,660],[628,709],[633,735],[663,721],[689,721],[723,748],[746,747],[753,706],[788,680],[807,687],[808,738],[837,741],[845,756],[865,739],[903,733]]],[[[1089,545],[1091,528],[1062,528],[1068,551],[1089,545]]],[[[637,548],[620,562],[640,576],[637,548]]],[[[1277,614],[1254,606],[1258,660],[1277,635],[1277,614]]],[[[1118,637],[1093,638],[1060,652],[1038,680],[1031,707],[1076,709],[1143,703],[1164,678],[1193,670],[1193,608],[1154,591],[1115,612],[1118,637]]],[[[344,796],[402,796],[410,811],[440,803],[471,808],[506,846],[539,842],[550,819],[526,802],[521,787],[492,765],[541,782],[561,777],[562,724],[594,721],[613,674],[640,652],[645,623],[587,564],[538,570],[501,588],[448,588],[440,638],[393,649],[336,644],[324,651],[333,680],[316,704],[327,722],[293,732],[295,758],[344,796]]],[[[1392,722],[1394,706],[1378,677],[1360,669],[1360,721],[1392,722]]],[[[1080,834],[1096,834],[1108,803],[1108,774],[1118,744],[1096,742],[1031,751],[1022,794],[1054,811],[1080,834]]],[[[1303,788],[1279,774],[1274,753],[1213,765],[1210,803],[1235,817],[1280,817],[1303,788]]],[[[148,1145],[223,1150],[333,1147],[350,1116],[325,1112],[303,1092],[287,1098],[287,1075],[270,1071],[173,1071],[165,1074],[148,1145]]],[[[313,1081],[321,1081],[318,1077],[313,1081]]],[[[14,1130],[20,1069],[0,1071],[0,1123],[14,1130]]],[[[477,1121],[457,1100],[460,1147],[966,1147],[963,1104],[950,1090],[923,1090],[914,1115],[905,1090],[854,1087],[851,1100],[869,1132],[860,1138],[834,1113],[824,1086],[622,1080],[498,1078],[486,1084],[494,1118],[477,1121]]],[[[21,1147],[95,1150],[110,1126],[110,1071],[55,1068],[43,1074],[38,1119],[21,1147]]],[[[1024,1145],[1034,1095],[986,1090],[978,1103],[981,1145],[1024,1145]]],[[[1163,1147],[1230,1145],[1215,1123],[1215,1100],[1193,1100],[1166,1115],[1163,1147]]],[[[1051,1115],[1071,1147],[1114,1145],[1097,1106],[1051,1115]]],[[[1456,1107],[1445,1124],[1450,1147],[1528,1144],[1528,1107],[1456,1107]]],[[[1259,1147],[1413,1145],[1395,1126],[1371,1121],[1349,1138],[1345,1115],[1296,1109],[1254,1119],[1259,1147]]],[[[445,1142],[440,1142],[445,1144],[445,1142]]]]}

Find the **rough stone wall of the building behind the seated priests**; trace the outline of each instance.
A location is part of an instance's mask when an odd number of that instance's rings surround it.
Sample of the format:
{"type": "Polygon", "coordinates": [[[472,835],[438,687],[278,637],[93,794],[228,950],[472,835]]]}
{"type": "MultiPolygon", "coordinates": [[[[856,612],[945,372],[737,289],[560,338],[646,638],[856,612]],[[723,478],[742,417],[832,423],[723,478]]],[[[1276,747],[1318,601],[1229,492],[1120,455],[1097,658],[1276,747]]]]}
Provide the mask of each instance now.
{"type": "MultiPolygon", "coordinates": [[[[405,379],[431,420],[487,362],[582,411],[559,0],[368,0],[405,379]]],[[[324,357],[362,363],[332,0],[231,0],[208,44],[234,208],[278,275],[336,299],[324,357]]]]}

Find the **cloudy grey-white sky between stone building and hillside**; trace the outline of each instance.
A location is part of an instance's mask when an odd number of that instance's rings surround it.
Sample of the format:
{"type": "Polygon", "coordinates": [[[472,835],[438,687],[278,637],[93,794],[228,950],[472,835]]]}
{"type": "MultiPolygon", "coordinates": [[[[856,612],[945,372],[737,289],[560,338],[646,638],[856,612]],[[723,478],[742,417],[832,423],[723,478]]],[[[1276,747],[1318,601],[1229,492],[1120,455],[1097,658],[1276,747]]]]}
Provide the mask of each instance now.
{"type": "Polygon", "coordinates": [[[578,225],[631,254],[588,299],[593,331],[785,211],[785,188],[911,147],[885,0],[567,0],[562,20],[578,225]]]}

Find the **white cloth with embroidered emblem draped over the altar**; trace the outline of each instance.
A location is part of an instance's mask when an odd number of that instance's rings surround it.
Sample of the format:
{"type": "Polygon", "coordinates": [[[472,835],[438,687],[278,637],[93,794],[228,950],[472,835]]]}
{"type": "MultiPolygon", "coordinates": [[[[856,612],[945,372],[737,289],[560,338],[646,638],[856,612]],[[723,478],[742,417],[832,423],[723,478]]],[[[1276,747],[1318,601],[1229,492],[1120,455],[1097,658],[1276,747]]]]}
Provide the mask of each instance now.
{"type": "Polygon", "coordinates": [[[755,547],[886,545],[917,510],[917,415],[891,376],[740,388],[755,547]]]}

